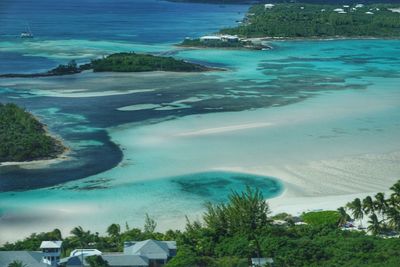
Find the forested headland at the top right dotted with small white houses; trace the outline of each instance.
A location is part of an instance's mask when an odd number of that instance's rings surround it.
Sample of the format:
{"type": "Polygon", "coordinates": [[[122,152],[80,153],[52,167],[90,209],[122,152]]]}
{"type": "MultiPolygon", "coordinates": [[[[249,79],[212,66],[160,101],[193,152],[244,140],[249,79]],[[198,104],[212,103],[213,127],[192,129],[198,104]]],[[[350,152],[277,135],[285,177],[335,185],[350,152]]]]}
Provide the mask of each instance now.
{"type": "Polygon", "coordinates": [[[243,24],[221,30],[242,37],[400,37],[393,5],[254,5],[243,24]]]}

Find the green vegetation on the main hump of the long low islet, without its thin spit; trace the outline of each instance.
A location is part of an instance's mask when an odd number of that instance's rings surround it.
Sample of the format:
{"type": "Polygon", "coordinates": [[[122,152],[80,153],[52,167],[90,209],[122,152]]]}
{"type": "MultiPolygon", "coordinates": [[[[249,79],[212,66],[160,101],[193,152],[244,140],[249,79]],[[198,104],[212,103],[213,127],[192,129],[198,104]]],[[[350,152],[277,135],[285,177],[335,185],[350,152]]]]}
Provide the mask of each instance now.
{"type": "Polygon", "coordinates": [[[153,56],[149,54],[117,53],[102,59],[93,60],[91,68],[95,72],[144,72],[175,71],[200,72],[211,70],[205,66],[177,60],[172,57],[153,56]]]}

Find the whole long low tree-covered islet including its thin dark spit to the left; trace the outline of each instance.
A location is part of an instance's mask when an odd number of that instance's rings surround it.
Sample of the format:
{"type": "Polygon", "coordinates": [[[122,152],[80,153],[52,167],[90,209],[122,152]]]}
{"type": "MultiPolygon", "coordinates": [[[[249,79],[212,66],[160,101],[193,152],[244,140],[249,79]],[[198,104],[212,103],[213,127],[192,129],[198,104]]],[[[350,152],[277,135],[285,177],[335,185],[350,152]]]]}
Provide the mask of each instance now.
{"type": "Polygon", "coordinates": [[[100,59],[94,59],[91,62],[82,65],[78,65],[75,60],[72,60],[68,64],[59,65],[56,68],[43,73],[1,74],[0,78],[61,76],[81,73],[85,70],[93,70],[94,72],[205,72],[222,69],[207,67],[204,65],[187,62],[185,60],[175,59],[173,57],[129,52],[111,54],[100,59]]]}

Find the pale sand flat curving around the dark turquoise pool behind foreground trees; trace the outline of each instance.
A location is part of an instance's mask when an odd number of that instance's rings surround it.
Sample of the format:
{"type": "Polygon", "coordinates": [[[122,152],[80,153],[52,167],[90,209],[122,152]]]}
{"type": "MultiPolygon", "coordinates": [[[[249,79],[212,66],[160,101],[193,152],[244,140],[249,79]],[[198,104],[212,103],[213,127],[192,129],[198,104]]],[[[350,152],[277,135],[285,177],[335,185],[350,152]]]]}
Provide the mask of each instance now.
{"type": "MultiPolygon", "coordinates": [[[[3,216],[0,236],[15,240],[55,225],[64,234],[76,225],[99,232],[113,222],[141,227],[144,212],[156,217],[160,231],[183,228],[185,215],[200,218],[199,200],[159,186],[134,194],[131,190],[135,183],[205,171],[279,179],[284,192],[268,199],[273,213],[334,210],[355,197],[386,192],[400,176],[396,85],[396,80],[387,81],[384,93],[379,88],[326,93],[294,105],[110,129],[112,140],[124,150],[124,160],[85,180],[112,177],[111,189],[49,191],[54,205],[42,205],[46,198],[35,194],[43,193],[32,191],[29,198],[38,202],[29,213],[3,216]]],[[[18,210],[19,204],[10,201],[18,210]]]]}

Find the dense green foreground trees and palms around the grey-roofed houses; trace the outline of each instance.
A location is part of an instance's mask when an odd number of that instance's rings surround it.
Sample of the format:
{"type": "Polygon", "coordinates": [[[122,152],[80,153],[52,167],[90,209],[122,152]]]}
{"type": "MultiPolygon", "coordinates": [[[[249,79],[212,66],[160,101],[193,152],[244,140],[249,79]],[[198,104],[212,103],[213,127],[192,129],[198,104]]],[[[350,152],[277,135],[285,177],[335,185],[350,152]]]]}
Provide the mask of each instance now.
{"type": "Polygon", "coordinates": [[[388,238],[387,230],[396,230],[397,234],[400,230],[400,180],[391,190],[387,197],[383,193],[370,197],[372,202],[353,205],[353,201],[337,211],[304,213],[299,224],[295,223],[299,218],[289,214],[271,216],[262,193],[247,188],[241,193],[232,192],[227,203],[206,204],[202,221],[187,219],[184,231],[156,232],[157,223],[146,215],[143,229],[126,223],[122,230],[120,225],[112,224],[107,235],[100,236],[75,227],[66,238],[56,229],[7,243],[0,250],[37,250],[43,240],[63,239],[66,256],[78,247],[122,251],[124,241],[151,238],[177,241],[177,256],[167,267],[247,267],[251,257],[271,257],[274,266],[397,267],[400,239],[388,238]],[[351,221],[347,211],[356,214],[356,218],[360,213],[375,214],[377,220],[371,219],[365,230],[349,230],[344,228],[351,221]],[[278,220],[285,223],[276,224],[278,220]]]}

